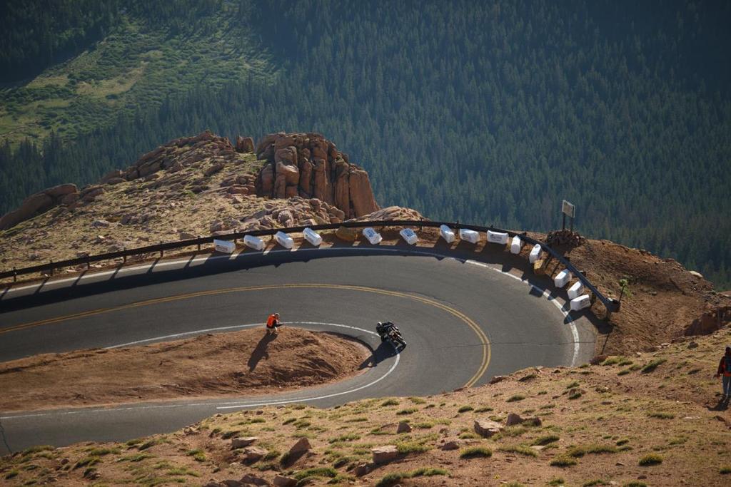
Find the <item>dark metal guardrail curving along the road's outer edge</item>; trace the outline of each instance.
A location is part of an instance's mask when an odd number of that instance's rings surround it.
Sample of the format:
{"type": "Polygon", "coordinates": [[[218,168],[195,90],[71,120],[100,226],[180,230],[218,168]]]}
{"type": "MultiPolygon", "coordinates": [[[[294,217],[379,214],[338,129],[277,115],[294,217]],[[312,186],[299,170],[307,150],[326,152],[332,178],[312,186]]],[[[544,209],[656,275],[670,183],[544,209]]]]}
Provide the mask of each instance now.
{"type": "Polygon", "coordinates": [[[586,278],[585,275],[583,275],[582,272],[580,272],[576,267],[569,262],[567,258],[564,256],[561,256],[556,250],[553,250],[548,245],[546,245],[544,242],[541,242],[537,239],[533,239],[531,237],[528,237],[525,232],[518,233],[515,231],[510,230],[503,230],[503,229],[497,229],[493,226],[479,226],[479,225],[469,225],[466,223],[447,223],[442,221],[421,221],[421,220],[385,220],[385,221],[346,221],[344,223],[328,223],[326,225],[314,225],[314,226],[293,226],[289,227],[287,229],[268,229],[268,230],[252,230],[252,231],[241,231],[241,232],[233,232],[230,234],[222,234],[222,235],[216,235],[211,237],[201,237],[197,239],[189,239],[189,240],[180,240],[178,242],[165,242],[165,243],[159,243],[157,245],[148,245],[146,247],[140,247],[140,248],[133,248],[133,249],[126,249],[126,250],[118,250],[117,252],[108,252],[108,253],[100,253],[96,256],[84,256],[84,257],[77,257],[77,258],[71,258],[66,261],[58,261],[53,262],[50,261],[47,264],[39,264],[37,266],[29,266],[29,267],[23,267],[22,269],[12,269],[11,271],[5,271],[0,272],[0,279],[4,279],[7,277],[12,277],[13,280],[17,280],[18,275],[26,275],[26,274],[32,274],[34,272],[43,272],[48,271],[50,275],[53,275],[54,269],[60,269],[62,267],[70,267],[70,266],[79,266],[86,264],[86,266],[91,265],[92,262],[99,262],[99,261],[108,261],[115,258],[124,258],[124,261],[126,262],[127,257],[131,256],[139,256],[141,254],[145,253],[160,253],[160,256],[163,256],[165,250],[174,250],[178,248],[184,248],[184,247],[196,247],[198,250],[200,250],[201,245],[205,244],[211,244],[213,243],[214,239],[221,239],[221,240],[235,240],[235,239],[243,239],[243,237],[246,237],[246,235],[251,235],[252,237],[263,237],[267,235],[274,235],[278,231],[282,231],[287,234],[296,234],[301,233],[304,229],[310,228],[314,231],[322,231],[322,230],[336,230],[341,226],[347,227],[347,228],[361,228],[361,227],[367,227],[367,226],[374,226],[374,227],[387,227],[387,226],[418,226],[420,228],[423,227],[432,227],[432,228],[439,228],[442,225],[449,226],[452,229],[469,229],[469,230],[475,230],[475,231],[482,231],[486,232],[488,230],[490,231],[499,231],[502,233],[506,233],[510,235],[510,237],[515,237],[518,235],[520,239],[522,239],[524,242],[528,242],[529,244],[539,244],[545,252],[548,252],[553,258],[556,258],[561,264],[566,266],[567,269],[569,269],[569,272],[572,273],[575,277],[577,277],[581,283],[591,291],[594,296],[596,296],[596,299],[599,299],[599,301],[602,302],[602,304],[605,305],[608,312],[615,312],[619,310],[619,302],[616,299],[607,298],[602,293],[599,292],[599,290],[594,287],[593,284],[589,282],[589,280],[586,278]]]}

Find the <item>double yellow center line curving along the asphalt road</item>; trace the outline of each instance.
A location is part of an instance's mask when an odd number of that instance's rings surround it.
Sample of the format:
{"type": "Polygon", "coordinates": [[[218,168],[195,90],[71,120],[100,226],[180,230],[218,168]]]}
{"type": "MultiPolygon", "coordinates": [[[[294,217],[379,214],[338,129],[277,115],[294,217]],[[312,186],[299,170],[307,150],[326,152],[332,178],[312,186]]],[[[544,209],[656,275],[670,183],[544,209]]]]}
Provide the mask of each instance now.
{"type": "Polygon", "coordinates": [[[490,340],[488,340],[488,337],[485,335],[485,332],[482,331],[482,329],[480,329],[480,326],[478,326],[477,323],[475,323],[471,318],[469,318],[463,312],[461,312],[459,310],[455,310],[453,307],[447,306],[446,304],[442,304],[440,302],[436,302],[433,299],[425,298],[423,296],[416,296],[414,294],[401,293],[399,291],[386,291],[384,289],[368,288],[368,287],[360,286],[360,285],[272,284],[272,285],[238,287],[238,288],[213,289],[210,291],[197,291],[194,293],[178,294],[176,296],[167,296],[164,298],[147,299],[145,301],[139,301],[139,302],[134,302],[134,303],[129,303],[129,304],[121,304],[120,306],[115,306],[115,307],[99,308],[98,310],[77,312],[77,313],[74,313],[71,315],[58,316],[56,318],[47,318],[45,320],[33,321],[31,323],[22,323],[20,325],[10,326],[8,328],[1,329],[0,334],[10,333],[11,331],[18,331],[18,330],[23,330],[23,329],[34,328],[36,326],[60,323],[61,321],[69,321],[69,320],[74,320],[77,318],[87,318],[88,316],[101,315],[102,313],[106,313],[106,312],[129,310],[129,309],[136,308],[136,307],[149,306],[151,304],[174,302],[174,301],[180,301],[182,299],[191,299],[191,298],[197,298],[197,297],[201,297],[201,296],[215,296],[217,294],[239,293],[239,292],[245,292],[245,291],[266,291],[269,289],[283,289],[283,288],[284,289],[287,289],[287,288],[290,288],[290,289],[291,288],[325,288],[325,289],[341,289],[341,290],[344,289],[347,291],[362,291],[362,292],[366,292],[366,293],[382,294],[385,296],[394,296],[394,297],[398,297],[398,298],[412,299],[417,302],[429,304],[430,306],[436,307],[439,310],[443,310],[443,311],[450,313],[450,315],[453,315],[453,316],[455,316],[455,318],[458,318],[459,320],[463,321],[463,323],[466,323],[466,325],[469,326],[472,329],[472,331],[474,331],[475,334],[477,334],[477,338],[480,339],[480,343],[482,344],[482,362],[480,363],[480,368],[477,369],[477,372],[475,372],[474,375],[465,383],[464,387],[474,386],[474,384],[477,383],[478,380],[480,380],[480,377],[482,377],[482,375],[485,374],[485,371],[488,369],[488,365],[490,364],[490,357],[491,357],[490,340]]]}

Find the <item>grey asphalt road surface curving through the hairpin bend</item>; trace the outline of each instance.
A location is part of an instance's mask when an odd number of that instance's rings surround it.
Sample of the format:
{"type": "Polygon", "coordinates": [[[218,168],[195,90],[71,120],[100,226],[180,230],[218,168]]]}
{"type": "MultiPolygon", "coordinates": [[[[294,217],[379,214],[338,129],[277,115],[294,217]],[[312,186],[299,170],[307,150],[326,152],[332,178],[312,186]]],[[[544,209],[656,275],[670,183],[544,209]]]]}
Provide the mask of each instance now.
{"type": "MultiPolygon", "coordinates": [[[[549,280],[523,275],[526,261],[497,253],[477,262],[469,251],[441,252],[360,246],[262,257],[247,251],[0,291],[0,361],[262,326],[274,311],[290,326],[349,334],[373,350],[363,374],[306,391],[0,413],[6,440],[12,450],[122,441],[244,407],[439,394],[525,367],[591,358],[594,326],[583,314],[567,313],[564,291],[549,280]],[[408,342],[403,352],[380,342],[376,321],[399,326],[408,342]]],[[[7,453],[1,441],[0,453],[7,453]]]]}

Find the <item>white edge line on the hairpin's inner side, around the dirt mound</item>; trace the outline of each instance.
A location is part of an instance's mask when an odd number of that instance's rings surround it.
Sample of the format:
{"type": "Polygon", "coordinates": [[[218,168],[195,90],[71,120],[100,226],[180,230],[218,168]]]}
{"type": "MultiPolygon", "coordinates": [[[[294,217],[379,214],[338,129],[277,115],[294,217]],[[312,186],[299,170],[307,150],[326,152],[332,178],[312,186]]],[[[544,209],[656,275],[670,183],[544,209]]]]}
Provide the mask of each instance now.
{"type": "MultiPolygon", "coordinates": [[[[129,342],[122,345],[113,345],[109,348],[118,348],[118,347],[124,347],[126,345],[135,345],[138,343],[143,342],[152,342],[155,340],[164,340],[166,338],[173,338],[173,337],[181,337],[183,335],[189,335],[189,334],[202,334],[207,333],[208,331],[218,331],[218,330],[227,330],[227,329],[236,329],[236,328],[246,328],[251,326],[261,326],[263,323],[250,323],[246,325],[235,325],[235,326],[220,326],[219,328],[208,328],[208,329],[202,329],[198,331],[188,331],[186,333],[178,333],[178,334],[172,334],[172,335],[166,335],[164,337],[156,337],[156,338],[149,338],[148,340],[138,340],[137,342],[129,342]]],[[[374,331],[364,330],[362,328],[357,328],[355,326],[349,326],[349,325],[341,325],[339,323],[321,323],[319,321],[287,321],[283,322],[282,324],[302,324],[302,325],[325,325],[325,326],[338,326],[339,328],[347,328],[357,331],[363,331],[363,333],[368,333],[371,335],[378,336],[377,333],[374,331]]],[[[380,381],[384,380],[387,376],[391,374],[398,365],[398,362],[401,360],[401,354],[396,353],[396,359],[393,361],[393,364],[391,367],[386,371],[384,375],[381,377],[378,377],[376,380],[373,380],[370,383],[367,383],[363,386],[359,386],[357,388],[349,389],[348,391],[341,391],[338,393],[333,394],[325,394],[322,396],[314,396],[314,397],[306,397],[302,399],[282,399],[282,400],[273,400],[273,401],[259,401],[259,402],[238,402],[238,401],[228,401],[228,402],[197,402],[197,403],[186,403],[186,404],[156,404],[153,406],[127,406],[127,407],[107,407],[107,408],[100,408],[100,409],[80,409],[80,410],[74,410],[74,411],[59,411],[59,412],[50,412],[50,413],[33,413],[33,414],[20,414],[20,415],[12,415],[12,416],[1,416],[1,420],[13,420],[13,419],[20,419],[20,418],[40,418],[44,416],[58,416],[58,415],[71,415],[71,414],[86,414],[86,413],[115,413],[117,411],[131,411],[131,410],[146,410],[146,409],[164,409],[164,408],[171,408],[171,407],[195,407],[195,406],[216,406],[216,409],[235,409],[235,408],[242,408],[242,407],[257,407],[257,406],[273,406],[276,404],[289,404],[293,402],[308,402],[308,401],[317,401],[318,399],[327,399],[330,397],[335,396],[342,396],[344,394],[352,394],[357,391],[362,391],[365,388],[374,386],[376,383],[379,383],[380,381]],[[218,406],[217,404],[235,404],[233,406],[218,406]]]]}

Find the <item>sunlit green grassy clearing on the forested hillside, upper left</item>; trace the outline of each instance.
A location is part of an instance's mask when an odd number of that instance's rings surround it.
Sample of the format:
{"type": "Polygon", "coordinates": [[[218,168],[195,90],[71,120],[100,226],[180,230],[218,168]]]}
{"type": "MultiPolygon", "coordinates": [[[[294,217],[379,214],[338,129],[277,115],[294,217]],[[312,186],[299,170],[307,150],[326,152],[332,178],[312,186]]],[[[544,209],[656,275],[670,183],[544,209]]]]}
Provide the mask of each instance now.
{"type": "Polygon", "coordinates": [[[215,1],[199,12],[203,2],[186,1],[175,15],[156,15],[154,7],[126,3],[101,41],[0,90],[1,140],[41,141],[51,131],[73,138],[175,93],[273,77],[265,49],[240,22],[243,7],[215,1]],[[180,25],[186,11],[192,19],[180,25]]]}

